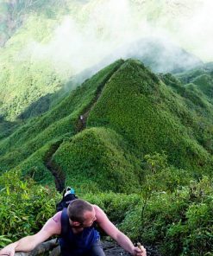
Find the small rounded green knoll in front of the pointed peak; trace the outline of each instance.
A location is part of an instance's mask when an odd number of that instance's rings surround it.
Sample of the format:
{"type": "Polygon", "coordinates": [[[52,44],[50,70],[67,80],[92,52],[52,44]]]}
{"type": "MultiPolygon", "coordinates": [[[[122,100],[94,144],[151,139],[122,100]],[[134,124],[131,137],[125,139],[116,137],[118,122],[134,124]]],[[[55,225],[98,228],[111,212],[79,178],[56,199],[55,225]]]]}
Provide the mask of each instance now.
{"type": "Polygon", "coordinates": [[[67,184],[78,191],[111,190],[132,193],[140,188],[141,163],[115,131],[91,128],[66,140],[53,155],[66,172],[67,184]]]}

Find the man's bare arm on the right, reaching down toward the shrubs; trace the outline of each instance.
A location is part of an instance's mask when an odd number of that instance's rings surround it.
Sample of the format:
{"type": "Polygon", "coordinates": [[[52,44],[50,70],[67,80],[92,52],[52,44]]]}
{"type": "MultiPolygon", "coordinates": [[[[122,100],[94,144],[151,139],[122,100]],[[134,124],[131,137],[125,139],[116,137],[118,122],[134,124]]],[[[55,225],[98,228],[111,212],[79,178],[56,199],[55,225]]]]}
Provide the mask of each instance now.
{"type": "Polygon", "coordinates": [[[122,246],[122,248],[132,255],[146,256],[146,249],[141,246],[141,249],[135,247],[128,236],[123,234],[116,226],[108,219],[103,210],[97,206],[93,206],[96,211],[97,223],[103,229],[103,231],[110,235],[110,237],[122,246]]]}

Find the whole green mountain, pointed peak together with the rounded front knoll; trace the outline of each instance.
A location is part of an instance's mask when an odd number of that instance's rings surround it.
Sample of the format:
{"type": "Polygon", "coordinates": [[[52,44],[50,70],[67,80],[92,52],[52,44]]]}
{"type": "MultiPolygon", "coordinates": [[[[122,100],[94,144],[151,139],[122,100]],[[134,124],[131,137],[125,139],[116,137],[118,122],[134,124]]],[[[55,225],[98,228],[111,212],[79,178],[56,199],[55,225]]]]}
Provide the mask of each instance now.
{"type": "Polygon", "coordinates": [[[210,173],[213,106],[202,95],[172,75],[157,77],[140,61],[116,61],[2,139],[1,170],[18,167],[37,181],[53,182],[51,168],[54,176],[66,177],[64,184],[77,186],[85,173],[83,183],[90,179],[99,189],[104,176],[105,189],[122,190],[139,186],[144,155],[164,151],[170,164],[191,175],[210,173]],[[203,106],[197,109],[194,99],[203,100],[203,106]],[[85,128],[90,129],[82,132],[85,128]],[[119,187],[117,180],[132,182],[119,187]]]}

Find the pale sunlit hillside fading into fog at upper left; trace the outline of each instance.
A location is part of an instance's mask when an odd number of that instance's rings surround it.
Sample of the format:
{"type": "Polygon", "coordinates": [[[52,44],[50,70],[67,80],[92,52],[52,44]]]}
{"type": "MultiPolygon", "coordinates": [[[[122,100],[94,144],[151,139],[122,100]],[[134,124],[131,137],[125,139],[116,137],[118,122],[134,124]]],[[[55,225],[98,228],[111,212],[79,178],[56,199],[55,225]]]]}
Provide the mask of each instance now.
{"type": "Polygon", "coordinates": [[[52,94],[67,80],[43,58],[41,49],[34,54],[53,38],[67,6],[66,1],[3,0],[0,10],[0,125],[2,120],[19,125],[47,112],[52,94]]]}

